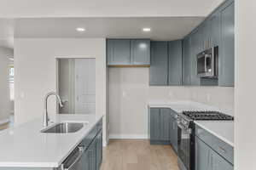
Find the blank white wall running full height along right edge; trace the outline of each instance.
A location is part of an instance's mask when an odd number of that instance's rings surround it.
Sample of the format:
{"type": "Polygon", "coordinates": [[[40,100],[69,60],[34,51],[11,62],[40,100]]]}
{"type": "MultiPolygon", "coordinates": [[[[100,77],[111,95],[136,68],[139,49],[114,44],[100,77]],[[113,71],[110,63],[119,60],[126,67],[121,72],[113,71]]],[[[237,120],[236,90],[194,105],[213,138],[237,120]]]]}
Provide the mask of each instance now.
{"type": "Polygon", "coordinates": [[[235,3],[235,169],[255,169],[256,1],[235,3]]]}

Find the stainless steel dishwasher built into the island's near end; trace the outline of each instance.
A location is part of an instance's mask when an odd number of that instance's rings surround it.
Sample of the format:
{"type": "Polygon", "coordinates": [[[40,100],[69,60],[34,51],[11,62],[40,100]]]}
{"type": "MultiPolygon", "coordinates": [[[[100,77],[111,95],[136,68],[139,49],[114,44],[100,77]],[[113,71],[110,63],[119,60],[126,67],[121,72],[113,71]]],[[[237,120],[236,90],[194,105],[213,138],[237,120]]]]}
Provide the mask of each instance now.
{"type": "Polygon", "coordinates": [[[61,170],[84,170],[85,147],[77,146],[61,164],[61,170]]]}

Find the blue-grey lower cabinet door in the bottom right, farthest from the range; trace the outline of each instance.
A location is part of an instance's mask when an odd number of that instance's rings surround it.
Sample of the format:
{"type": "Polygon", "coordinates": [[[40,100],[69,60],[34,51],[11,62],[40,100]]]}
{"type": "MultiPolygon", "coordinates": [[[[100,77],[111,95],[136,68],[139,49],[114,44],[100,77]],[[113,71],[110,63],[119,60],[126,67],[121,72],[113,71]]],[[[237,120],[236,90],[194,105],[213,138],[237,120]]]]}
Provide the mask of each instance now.
{"type": "Polygon", "coordinates": [[[224,160],[217,152],[211,150],[211,170],[233,170],[234,167],[230,162],[224,160]]]}

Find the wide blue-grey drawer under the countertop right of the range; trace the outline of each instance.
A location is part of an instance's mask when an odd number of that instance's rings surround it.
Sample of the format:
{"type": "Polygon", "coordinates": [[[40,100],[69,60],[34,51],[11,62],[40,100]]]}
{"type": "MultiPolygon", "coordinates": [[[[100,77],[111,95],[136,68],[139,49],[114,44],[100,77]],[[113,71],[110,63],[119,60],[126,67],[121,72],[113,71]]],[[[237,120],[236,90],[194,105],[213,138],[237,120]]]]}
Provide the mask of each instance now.
{"type": "Polygon", "coordinates": [[[208,144],[212,150],[218,152],[220,156],[223,156],[227,161],[230,161],[231,164],[234,164],[234,148],[230,144],[218,139],[216,136],[197,125],[195,126],[195,135],[208,144]]]}

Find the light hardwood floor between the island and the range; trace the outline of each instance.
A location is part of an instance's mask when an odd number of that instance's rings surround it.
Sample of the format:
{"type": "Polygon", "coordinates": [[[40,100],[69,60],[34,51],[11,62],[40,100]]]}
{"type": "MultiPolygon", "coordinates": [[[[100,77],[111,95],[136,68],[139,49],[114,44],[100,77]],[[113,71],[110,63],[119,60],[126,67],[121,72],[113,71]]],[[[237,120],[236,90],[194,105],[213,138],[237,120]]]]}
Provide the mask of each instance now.
{"type": "Polygon", "coordinates": [[[111,140],[103,149],[101,170],[178,170],[177,156],[170,145],[111,140]]]}

